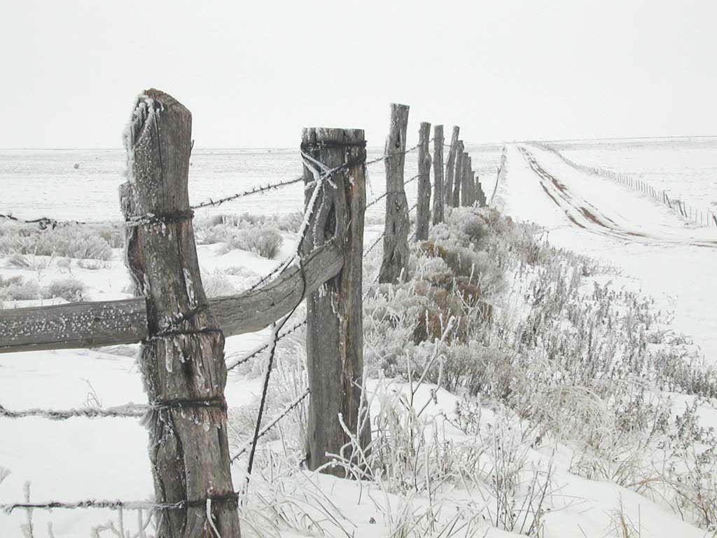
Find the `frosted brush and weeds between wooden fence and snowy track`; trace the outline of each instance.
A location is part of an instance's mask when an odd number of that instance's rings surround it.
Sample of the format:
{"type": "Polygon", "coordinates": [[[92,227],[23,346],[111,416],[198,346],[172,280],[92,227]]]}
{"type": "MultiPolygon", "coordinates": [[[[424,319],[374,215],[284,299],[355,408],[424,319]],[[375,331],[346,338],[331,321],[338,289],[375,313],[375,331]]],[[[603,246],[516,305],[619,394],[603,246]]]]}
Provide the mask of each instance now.
{"type": "Polygon", "coordinates": [[[717,396],[717,372],[650,298],[540,237],[494,212],[454,210],[414,248],[409,282],[369,295],[369,372],[464,395],[461,420],[486,402],[514,412],[530,445],[571,446],[571,472],[634,489],[713,532],[717,441],[699,409],[717,396]],[[450,316],[457,322],[436,344],[450,316]]]}

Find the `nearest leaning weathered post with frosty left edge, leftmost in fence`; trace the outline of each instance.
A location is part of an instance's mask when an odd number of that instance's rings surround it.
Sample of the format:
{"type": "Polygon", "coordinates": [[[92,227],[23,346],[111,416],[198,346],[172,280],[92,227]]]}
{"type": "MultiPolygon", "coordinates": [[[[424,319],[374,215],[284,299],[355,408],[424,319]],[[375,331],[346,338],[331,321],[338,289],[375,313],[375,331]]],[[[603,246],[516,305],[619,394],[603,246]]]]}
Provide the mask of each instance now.
{"type": "Polygon", "coordinates": [[[139,363],[153,406],[146,423],[155,500],[184,503],[159,512],[156,535],[214,537],[216,528],[222,538],[237,538],[224,336],[207,306],[189,209],[191,113],[171,95],[147,90],[124,141],[120,204],[127,220],[142,222],[127,228],[125,262],[135,295],[147,301],[149,336],[139,363]]]}

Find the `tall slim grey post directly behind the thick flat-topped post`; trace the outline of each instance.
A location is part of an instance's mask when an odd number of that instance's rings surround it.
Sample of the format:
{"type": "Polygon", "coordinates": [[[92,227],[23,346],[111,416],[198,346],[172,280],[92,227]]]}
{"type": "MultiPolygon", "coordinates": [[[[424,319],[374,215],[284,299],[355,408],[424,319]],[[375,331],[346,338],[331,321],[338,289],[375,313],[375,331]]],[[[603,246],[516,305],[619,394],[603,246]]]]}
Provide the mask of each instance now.
{"type": "Polygon", "coordinates": [[[384,258],[379,270],[380,283],[396,283],[408,278],[408,201],[404,189],[408,105],[391,103],[391,125],[386,138],[386,227],[384,258]]]}

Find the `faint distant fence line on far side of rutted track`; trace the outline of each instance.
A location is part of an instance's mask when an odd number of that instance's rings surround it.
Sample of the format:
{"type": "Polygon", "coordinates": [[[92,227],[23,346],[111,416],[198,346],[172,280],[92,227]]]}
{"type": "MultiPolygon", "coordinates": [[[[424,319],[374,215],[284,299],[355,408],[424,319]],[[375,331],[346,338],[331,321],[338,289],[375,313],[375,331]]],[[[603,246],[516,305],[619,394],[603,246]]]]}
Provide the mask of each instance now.
{"type": "Polygon", "coordinates": [[[674,212],[680,214],[681,217],[685,217],[685,219],[690,220],[690,222],[694,222],[696,225],[704,227],[717,227],[717,213],[711,211],[710,209],[697,209],[695,207],[691,207],[683,200],[674,197],[670,198],[667,190],[655,189],[655,187],[652,187],[652,185],[648,184],[647,181],[642,181],[642,179],[637,179],[628,174],[622,174],[622,172],[600,168],[599,166],[586,166],[584,164],[576,163],[572,159],[564,156],[555,146],[552,146],[549,143],[531,142],[531,144],[533,144],[533,146],[543,148],[546,151],[551,151],[574,169],[578,169],[589,174],[597,174],[599,176],[607,177],[613,181],[617,181],[625,187],[642,192],[642,194],[647,194],[657,200],[657,202],[664,204],[674,212]]]}

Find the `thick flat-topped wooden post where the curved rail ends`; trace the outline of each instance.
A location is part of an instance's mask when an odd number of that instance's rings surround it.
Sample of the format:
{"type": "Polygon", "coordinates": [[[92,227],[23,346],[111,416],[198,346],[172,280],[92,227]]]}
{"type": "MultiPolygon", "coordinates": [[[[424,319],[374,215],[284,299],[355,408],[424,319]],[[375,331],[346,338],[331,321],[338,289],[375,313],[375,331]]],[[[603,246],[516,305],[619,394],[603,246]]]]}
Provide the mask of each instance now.
{"type": "MultiPolygon", "coordinates": [[[[339,415],[361,447],[371,442],[371,427],[361,398],[364,373],[364,322],[361,294],[366,211],[366,139],[361,129],[305,128],[301,150],[329,169],[341,167],[315,200],[303,253],[336,241],[343,247],[343,268],[306,300],[306,357],[311,393],[306,440],[307,465],[315,470],[348,443],[339,415]],[[359,424],[361,420],[361,424],[359,424]],[[360,429],[360,432],[359,432],[360,429]]],[[[304,166],[304,181],[315,185],[304,166]]],[[[313,188],[305,194],[311,203],[313,188]]],[[[346,453],[351,457],[351,453],[346,453]]],[[[342,468],[323,472],[343,476],[342,468]]]]}

